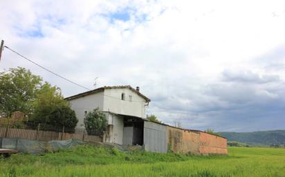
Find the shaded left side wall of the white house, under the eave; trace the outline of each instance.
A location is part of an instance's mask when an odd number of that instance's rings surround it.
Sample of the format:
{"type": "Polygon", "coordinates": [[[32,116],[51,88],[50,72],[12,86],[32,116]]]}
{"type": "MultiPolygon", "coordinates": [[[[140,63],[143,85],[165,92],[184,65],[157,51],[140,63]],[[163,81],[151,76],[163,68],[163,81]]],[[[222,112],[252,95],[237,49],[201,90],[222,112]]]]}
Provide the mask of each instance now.
{"type": "Polygon", "coordinates": [[[92,111],[96,107],[99,107],[99,109],[102,110],[104,105],[104,96],[101,92],[101,94],[90,94],[68,102],[71,103],[71,109],[75,111],[76,117],[78,118],[76,128],[84,128],[85,111],[92,111]]]}

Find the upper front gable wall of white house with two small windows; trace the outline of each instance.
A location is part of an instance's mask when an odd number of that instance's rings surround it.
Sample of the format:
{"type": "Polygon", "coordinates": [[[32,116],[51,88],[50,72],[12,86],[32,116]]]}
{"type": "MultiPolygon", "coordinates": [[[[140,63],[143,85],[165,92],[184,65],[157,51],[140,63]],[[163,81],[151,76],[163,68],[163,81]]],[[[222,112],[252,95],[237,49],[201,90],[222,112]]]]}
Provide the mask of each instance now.
{"type": "Polygon", "coordinates": [[[145,118],[145,99],[128,88],[105,89],[103,110],[145,118]],[[125,100],[122,100],[122,93],[125,93],[125,100]]]}

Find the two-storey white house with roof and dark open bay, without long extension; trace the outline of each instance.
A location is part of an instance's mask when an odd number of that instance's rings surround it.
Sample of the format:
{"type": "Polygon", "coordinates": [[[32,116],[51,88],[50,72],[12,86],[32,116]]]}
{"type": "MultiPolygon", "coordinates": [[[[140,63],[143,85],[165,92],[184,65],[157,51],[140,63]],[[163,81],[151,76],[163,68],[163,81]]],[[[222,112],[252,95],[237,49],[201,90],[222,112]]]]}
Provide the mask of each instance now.
{"type": "Polygon", "coordinates": [[[145,107],[150,99],[140,93],[139,87],[134,89],[130,85],[105,86],[69,96],[66,100],[71,103],[71,109],[78,118],[77,128],[84,128],[84,116],[99,107],[108,118],[106,142],[143,145],[142,120],[145,118],[145,107]]]}

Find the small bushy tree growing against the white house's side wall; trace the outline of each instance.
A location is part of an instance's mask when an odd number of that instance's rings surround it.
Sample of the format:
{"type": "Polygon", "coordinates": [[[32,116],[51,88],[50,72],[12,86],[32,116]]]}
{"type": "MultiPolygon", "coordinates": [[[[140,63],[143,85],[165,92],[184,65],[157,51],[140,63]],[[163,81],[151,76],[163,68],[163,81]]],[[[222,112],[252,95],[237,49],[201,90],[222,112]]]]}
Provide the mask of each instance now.
{"type": "Polygon", "coordinates": [[[84,125],[88,134],[102,136],[107,130],[107,116],[97,107],[92,112],[86,114],[84,125]]]}

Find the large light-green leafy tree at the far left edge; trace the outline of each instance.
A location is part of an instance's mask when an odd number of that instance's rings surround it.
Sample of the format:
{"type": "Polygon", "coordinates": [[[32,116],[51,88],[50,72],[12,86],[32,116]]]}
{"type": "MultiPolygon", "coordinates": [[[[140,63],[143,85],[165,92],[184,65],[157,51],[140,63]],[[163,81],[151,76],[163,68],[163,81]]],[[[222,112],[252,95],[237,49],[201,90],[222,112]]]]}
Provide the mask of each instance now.
{"type": "Polygon", "coordinates": [[[35,76],[23,67],[0,72],[0,115],[8,117],[15,111],[31,114],[35,92],[41,83],[40,76],[35,76]]]}

